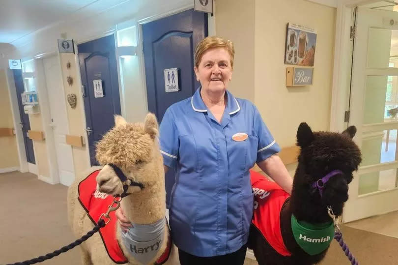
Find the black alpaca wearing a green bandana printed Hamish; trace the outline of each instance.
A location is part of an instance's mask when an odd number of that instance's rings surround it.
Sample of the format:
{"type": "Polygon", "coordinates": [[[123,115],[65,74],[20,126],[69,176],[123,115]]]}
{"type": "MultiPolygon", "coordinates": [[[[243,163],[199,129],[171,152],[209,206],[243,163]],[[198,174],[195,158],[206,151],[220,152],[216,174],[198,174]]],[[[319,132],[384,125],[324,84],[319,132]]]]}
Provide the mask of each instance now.
{"type": "MultiPolygon", "coordinates": [[[[293,190],[291,197],[283,202],[280,212],[280,234],[291,255],[279,254],[252,224],[248,246],[253,249],[259,265],[311,265],[319,263],[325,257],[332,240],[320,253],[308,254],[293,236],[291,219],[293,215],[299,223],[331,223],[327,206],[332,207],[336,216],[341,215],[344,203],[348,200],[348,183],[353,178],[352,172],[361,163],[361,152],[352,141],[355,133],[355,126],[348,127],[340,134],[313,132],[307,123],[300,124],[297,145],[301,147],[301,151],[293,190]],[[313,187],[313,183],[331,172],[334,172],[334,176],[324,184],[321,195],[313,187]]],[[[272,200],[268,203],[272,203],[272,200]]],[[[261,222],[267,222],[268,217],[261,215],[261,222]]]]}

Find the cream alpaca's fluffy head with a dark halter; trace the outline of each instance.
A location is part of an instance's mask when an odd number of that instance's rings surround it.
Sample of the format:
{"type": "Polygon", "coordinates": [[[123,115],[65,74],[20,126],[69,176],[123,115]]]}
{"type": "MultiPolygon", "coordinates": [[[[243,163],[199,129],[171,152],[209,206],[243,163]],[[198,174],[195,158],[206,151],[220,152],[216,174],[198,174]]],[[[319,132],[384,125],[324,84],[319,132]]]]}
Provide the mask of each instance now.
{"type": "Polygon", "coordinates": [[[127,123],[115,116],[115,126],[96,146],[96,158],[104,166],[97,176],[97,189],[111,195],[138,192],[153,185],[164,185],[163,159],[158,143],[158,122],[148,113],[144,123],[127,123]],[[122,183],[110,164],[121,170],[122,183]],[[135,183],[135,185],[130,185],[135,183]]]}

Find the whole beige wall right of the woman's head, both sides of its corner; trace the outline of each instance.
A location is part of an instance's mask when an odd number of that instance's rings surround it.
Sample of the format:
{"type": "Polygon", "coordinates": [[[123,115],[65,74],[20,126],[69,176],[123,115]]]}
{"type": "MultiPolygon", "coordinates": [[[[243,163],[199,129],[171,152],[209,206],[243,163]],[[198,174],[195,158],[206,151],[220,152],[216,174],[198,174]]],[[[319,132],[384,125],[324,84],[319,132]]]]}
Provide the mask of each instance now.
{"type": "Polygon", "coordinates": [[[235,45],[229,90],[255,103],[281,147],[295,145],[300,122],[330,123],[336,8],[305,0],[216,0],[216,33],[235,45]],[[313,85],[286,88],[287,23],[317,33],[313,85]]]}

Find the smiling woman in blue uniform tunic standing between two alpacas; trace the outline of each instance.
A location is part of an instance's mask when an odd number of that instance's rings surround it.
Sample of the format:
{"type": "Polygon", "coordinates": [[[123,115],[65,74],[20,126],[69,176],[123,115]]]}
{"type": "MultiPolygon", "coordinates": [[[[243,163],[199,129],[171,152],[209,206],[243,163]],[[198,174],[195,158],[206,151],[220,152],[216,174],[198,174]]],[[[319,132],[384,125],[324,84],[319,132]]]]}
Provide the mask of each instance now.
{"type": "MultiPolygon", "coordinates": [[[[194,67],[201,87],[171,105],[160,124],[165,171],[175,168],[170,226],[181,265],[243,265],[255,163],[291,192],[292,179],[276,155],[280,147],[256,106],[227,90],[233,59],[232,42],[203,39],[194,67]]],[[[120,211],[117,217],[126,230],[120,211]]]]}

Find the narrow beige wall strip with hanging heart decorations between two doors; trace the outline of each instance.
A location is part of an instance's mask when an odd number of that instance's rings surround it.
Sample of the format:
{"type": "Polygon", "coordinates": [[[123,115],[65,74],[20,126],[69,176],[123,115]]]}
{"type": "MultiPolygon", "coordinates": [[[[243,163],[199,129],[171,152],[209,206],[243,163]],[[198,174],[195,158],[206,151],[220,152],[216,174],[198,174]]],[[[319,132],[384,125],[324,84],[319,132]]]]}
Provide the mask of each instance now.
{"type": "MultiPolygon", "coordinates": [[[[78,76],[79,64],[76,63],[74,54],[59,54],[61,60],[62,69],[62,82],[65,89],[65,100],[68,98],[68,94],[76,94],[77,104],[76,108],[72,109],[69,103],[66,102],[66,110],[69,122],[69,134],[81,135],[85,138],[84,122],[84,105],[82,99],[82,93],[80,89],[80,76],[78,76]],[[66,64],[70,62],[70,69],[66,68],[66,64]],[[69,86],[66,77],[71,76],[73,78],[72,86],[69,86]]],[[[87,163],[87,151],[86,147],[72,147],[73,163],[75,166],[75,173],[85,171],[90,165],[87,163]]]]}

